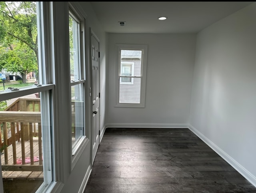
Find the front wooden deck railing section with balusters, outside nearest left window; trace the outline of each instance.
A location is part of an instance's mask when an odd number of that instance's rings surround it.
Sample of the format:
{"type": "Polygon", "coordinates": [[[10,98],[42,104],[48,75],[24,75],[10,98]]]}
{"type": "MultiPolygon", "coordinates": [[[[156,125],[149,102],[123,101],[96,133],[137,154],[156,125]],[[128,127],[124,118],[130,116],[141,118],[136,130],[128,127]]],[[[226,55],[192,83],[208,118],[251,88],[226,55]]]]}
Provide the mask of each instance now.
{"type": "MultiPolygon", "coordinates": [[[[34,151],[39,156],[39,165],[36,167],[42,171],[42,131],[41,131],[41,113],[25,112],[25,111],[0,111],[0,120],[3,128],[3,138],[0,147],[4,149],[4,164],[2,170],[16,171],[17,165],[17,148],[16,141],[21,143],[21,159],[22,165],[25,165],[26,149],[30,150],[30,165],[34,165],[34,151]],[[34,127],[36,125],[36,128],[34,127]],[[10,127],[8,128],[8,125],[10,127]],[[8,129],[11,129],[11,137],[8,137],[8,129]],[[34,137],[38,137],[38,149],[34,150],[34,137]],[[28,147],[25,143],[29,141],[28,147]],[[8,152],[8,146],[12,145],[12,155],[8,152]],[[10,157],[12,162],[10,164],[10,157]],[[40,166],[41,165],[41,166],[40,166]]],[[[24,170],[23,170],[24,171],[24,170]]],[[[30,170],[31,171],[31,170],[30,170]]]]}

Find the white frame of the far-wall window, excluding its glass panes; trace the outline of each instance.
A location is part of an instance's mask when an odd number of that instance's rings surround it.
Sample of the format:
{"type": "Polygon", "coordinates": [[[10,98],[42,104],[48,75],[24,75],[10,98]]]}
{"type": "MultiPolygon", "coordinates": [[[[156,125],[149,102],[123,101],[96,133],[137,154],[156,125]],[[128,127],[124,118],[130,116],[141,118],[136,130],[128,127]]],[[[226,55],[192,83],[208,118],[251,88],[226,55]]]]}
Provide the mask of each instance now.
{"type": "Polygon", "coordinates": [[[115,107],[145,107],[145,96],[146,96],[146,68],[147,68],[147,54],[148,45],[144,44],[116,44],[116,102],[115,107]],[[141,50],[141,70],[140,76],[123,76],[131,78],[140,78],[140,103],[120,103],[119,102],[119,88],[121,76],[121,50],[141,50]]]}

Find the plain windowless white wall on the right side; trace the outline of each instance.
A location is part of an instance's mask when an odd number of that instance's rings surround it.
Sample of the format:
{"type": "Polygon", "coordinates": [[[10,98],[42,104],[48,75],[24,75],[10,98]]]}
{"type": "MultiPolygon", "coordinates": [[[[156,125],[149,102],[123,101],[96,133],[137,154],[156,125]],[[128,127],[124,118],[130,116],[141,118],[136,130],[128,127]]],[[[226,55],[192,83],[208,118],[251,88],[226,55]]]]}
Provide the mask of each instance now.
{"type": "Polygon", "coordinates": [[[190,129],[256,186],[256,3],[198,33],[190,129]]]}

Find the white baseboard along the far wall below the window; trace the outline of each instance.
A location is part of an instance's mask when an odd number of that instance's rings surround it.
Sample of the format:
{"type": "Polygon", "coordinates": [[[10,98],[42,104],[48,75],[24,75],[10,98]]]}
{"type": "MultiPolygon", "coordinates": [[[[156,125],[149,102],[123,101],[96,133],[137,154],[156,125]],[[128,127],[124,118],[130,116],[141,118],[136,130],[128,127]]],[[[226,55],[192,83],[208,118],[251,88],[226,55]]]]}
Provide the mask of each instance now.
{"type": "Polygon", "coordinates": [[[188,128],[188,124],[107,123],[104,128],[188,128]]]}

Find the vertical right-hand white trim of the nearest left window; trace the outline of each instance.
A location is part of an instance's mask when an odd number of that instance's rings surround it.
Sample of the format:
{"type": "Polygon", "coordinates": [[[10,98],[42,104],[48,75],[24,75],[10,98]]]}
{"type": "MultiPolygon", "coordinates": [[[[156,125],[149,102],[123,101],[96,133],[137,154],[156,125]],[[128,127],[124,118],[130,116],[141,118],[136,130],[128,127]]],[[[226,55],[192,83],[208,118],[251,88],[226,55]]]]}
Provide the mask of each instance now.
{"type": "MultiPolygon", "coordinates": [[[[55,111],[54,111],[54,96],[55,96],[55,84],[54,84],[54,34],[53,34],[53,3],[52,2],[39,2],[40,6],[42,7],[37,10],[38,16],[43,16],[43,18],[37,18],[38,23],[41,24],[41,29],[38,29],[38,37],[42,40],[42,42],[38,41],[38,55],[39,58],[41,58],[42,61],[40,61],[43,65],[45,64],[44,68],[41,69],[41,77],[42,77],[42,83],[41,84],[47,84],[42,85],[45,88],[49,87],[49,92],[51,92],[51,98],[48,98],[48,95],[45,92],[41,93],[42,100],[48,100],[48,103],[50,104],[50,111],[51,116],[47,113],[47,111],[44,111],[45,105],[41,104],[41,113],[42,113],[42,119],[47,120],[48,123],[52,125],[52,134],[49,132],[44,133],[47,137],[44,137],[44,140],[42,141],[44,146],[52,146],[52,155],[47,153],[47,149],[44,148],[43,154],[46,155],[45,158],[50,159],[52,156],[52,163],[44,163],[44,170],[47,172],[44,174],[44,179],[50,179],[50,176],[52,176],[52,181],[44,181],[42,185],[38,188],[36,192],[45,193],[49,191],[49,189],[58,189],[63,186],[63,183],[59,181],[58,179],[58,164],[60,163],[57,161],[57,157],[59,157],[58,153],[56,152],[56,148],[59,147],[58,140],[56,140],[56,132],[57,127],[56,123],[54,121],[55,117],[55,111]],[[42,22],[40,22],[40,20],[42,22]],[[48,38],[45,38],[48,37],[48,38]],[[44,61],[44,62],[43,62],[44,61]],[[47,72],[47,73],[46,73],[47,72]],[[49,73],[50,72],[50,73],[49,73]],[[50,90],[50,88],[52,88],[50,90]],[[50,138],[50,135],[52,136],[52,142],[48,141],[50,138]],[[51,171],[52,170],[52,171],[51,171]]],[[[39,68],[41,65],[39,65],[39,68]]],[[[39,70],[39,69],[38,69],[39,70]]],[[[40,85],[38,85],[40,86],[40,85]]],[[[49,93],[50,94],[50,93],[49,93]]],[[[50,125],[48,125],[50,126],[50,125]]],[[[47,127],[48,127],[47,126],[47,127]]],[[[42,125],[43,129],[43,125],[42,125]]],[[[45,130],[45,129],[44,129],[45,130]]],[[[42,130],[43,131],[43,130],[42,130]]],[[[44,131],[45,132],[45,131],[44,131]]]]}

